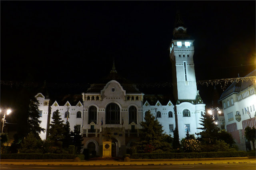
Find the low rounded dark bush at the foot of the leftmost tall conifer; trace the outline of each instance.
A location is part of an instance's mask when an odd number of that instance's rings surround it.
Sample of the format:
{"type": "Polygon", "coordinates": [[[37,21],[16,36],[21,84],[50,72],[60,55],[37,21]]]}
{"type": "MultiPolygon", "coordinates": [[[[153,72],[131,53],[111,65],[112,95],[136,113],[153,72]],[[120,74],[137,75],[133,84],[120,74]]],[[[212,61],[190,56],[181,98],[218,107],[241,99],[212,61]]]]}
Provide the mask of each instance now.
{"type": "Polygon", "coordinates": [[[30,132],[22,141],[20,153],[42,153],[42,140],[37,139],[33,132],[30,132]]]}

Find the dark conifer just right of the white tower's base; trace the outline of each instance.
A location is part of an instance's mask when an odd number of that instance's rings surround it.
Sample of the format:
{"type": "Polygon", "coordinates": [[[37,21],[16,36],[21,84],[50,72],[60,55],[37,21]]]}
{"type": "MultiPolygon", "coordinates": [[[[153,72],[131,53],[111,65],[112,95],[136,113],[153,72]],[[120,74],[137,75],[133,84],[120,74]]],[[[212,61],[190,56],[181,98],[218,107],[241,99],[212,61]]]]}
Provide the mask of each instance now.
{"type": "Polygon", "coordinates": [[[199,140],[202,141],[205,144],[215,144],[216,140],[218,139],[218,131],[220,128],[217,127],[217,125],[214,123],[214,120],[212,119],[213,115],[210,114],[204,114],[201,118],[201,122],[199,123],[203,127],[199,127],[197,129],[202,130],[200,133],[196,133],[196,135],[200,135],[199,140]]]}

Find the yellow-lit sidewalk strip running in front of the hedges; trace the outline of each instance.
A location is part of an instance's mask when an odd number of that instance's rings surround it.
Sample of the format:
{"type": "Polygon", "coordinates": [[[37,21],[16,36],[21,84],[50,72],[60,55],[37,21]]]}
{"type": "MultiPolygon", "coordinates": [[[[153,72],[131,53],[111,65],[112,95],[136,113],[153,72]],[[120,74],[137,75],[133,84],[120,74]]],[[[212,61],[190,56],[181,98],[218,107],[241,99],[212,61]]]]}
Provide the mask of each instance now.
{"type": "Polygon", "coordinates": [[[124,160],[83,160],[74,162],[73,160],[0,160],[0,164],[14,165],[183,165],[183,164],[239,164],[256,163],[255,158],[236,157],[236,158],[200,158],[200,159],[131,159],[131,162],[124,160]]]}

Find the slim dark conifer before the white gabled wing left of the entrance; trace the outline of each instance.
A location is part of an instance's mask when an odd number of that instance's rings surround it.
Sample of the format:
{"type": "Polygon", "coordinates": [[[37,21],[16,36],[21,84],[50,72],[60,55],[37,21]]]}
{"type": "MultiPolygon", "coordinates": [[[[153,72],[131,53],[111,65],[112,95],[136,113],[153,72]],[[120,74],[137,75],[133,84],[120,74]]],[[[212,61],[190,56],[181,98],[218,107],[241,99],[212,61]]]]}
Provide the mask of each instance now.
{"type": "Polygon", "coordinates": [[[65,138],[64,120],[61,120],[59,110],[56,110],[53,115],[53,121],[50,124],[49,140],[52,141],[53,147],[57,147],[56,152],[62,152],[62,140],[65,138]]]}

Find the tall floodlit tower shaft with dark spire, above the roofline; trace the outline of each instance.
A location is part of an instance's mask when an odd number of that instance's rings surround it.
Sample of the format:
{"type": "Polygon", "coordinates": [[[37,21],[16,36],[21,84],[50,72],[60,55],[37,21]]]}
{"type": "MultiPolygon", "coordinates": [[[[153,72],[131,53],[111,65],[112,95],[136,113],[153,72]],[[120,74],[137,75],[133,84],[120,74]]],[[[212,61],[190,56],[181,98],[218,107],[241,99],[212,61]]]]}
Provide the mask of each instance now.
{"type": "Polygon", "coordinates": [[[170,61],[175,100],[194,100],[197,95],[194,69],[194,39],[187,34],[180,13],[177,12],[173,39],[170,45],[170,61]]]}

